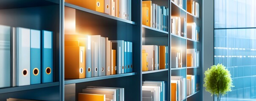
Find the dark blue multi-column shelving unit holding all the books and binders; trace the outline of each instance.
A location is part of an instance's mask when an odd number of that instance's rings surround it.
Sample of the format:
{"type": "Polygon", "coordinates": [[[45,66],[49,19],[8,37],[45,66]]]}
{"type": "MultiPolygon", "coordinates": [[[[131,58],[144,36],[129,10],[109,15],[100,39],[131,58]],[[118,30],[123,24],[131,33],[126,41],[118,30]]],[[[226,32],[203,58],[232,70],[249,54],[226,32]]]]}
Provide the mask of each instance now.
{"type": "MultiPolygon", "coordinates": [[[[11,27],[24,27],[37,30],[53,31],[53,82],[20,87],[0,88],[0,101],[6,98],[21,98],[44,101],[78,101],[78,93],[87,86],[117,87],[125,89],[125,101],[142,100],[143,81],[165,81],[167,101],[171,99],[171,77],[187,74],[200,75],[200,87],[202,87],[202,36],[203,17],[200,9],[200,17],[189,13],[184,4],[183,8],[172,0],[152,0],[152,3],[169,8],[168,31],[155,29],[142,25],[142,5],[144,0],[132,0],[132,20],[125,20],[105,13],[100,13],[77,5],[66,3],[65,0],[1,0],[0,1],[0,25],[11,27]],[[71,12],[69,12],[71,10],[71,12]],[[70,17],[70,24],[65,18],[70,17]],[[171,16],[186,18],[186,21],[197,22],[200,26],[200,40],[191,40],[173,34],[170,24],[171,16]],[[72,27],[72,26],[75,27],[72,27]],[[66,27],[75,28],[71,32],[66,27]],[[132,42],[133,71],[125,74],[107,75],[83,79],[65,79],[65,51],[64,41],[66,34],[101,35],[109,40],[124,40],[132,42]],[[142,72],[141,55],[142,45],[168,46],[168,69],[142,72]],[[171,51],[182,50],[182,67],[171,68],[171,51]],[[187,67],[186,49],[197,48],[200,51],[200,66],[187,67]],[[29,96],[28,96],[29,95],[29,96]]],[[[188,0],[183,0],[186,3],[188,0]]],[[[203,6],[203,0],[196,0],[203,6]]],[[[182,101],[202,101],[202,90],[182,101]]]]}

